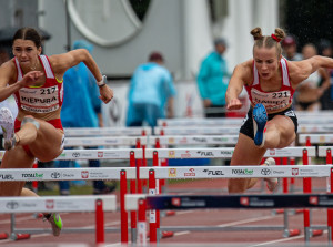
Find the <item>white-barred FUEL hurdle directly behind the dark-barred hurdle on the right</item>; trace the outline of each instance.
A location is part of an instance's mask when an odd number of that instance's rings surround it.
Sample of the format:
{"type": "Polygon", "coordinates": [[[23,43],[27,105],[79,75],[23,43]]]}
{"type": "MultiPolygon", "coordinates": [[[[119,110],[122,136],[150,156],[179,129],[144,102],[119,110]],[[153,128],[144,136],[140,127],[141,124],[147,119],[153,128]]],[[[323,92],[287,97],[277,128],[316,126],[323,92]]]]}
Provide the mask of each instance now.
{"type": "MultiPolygon", "coordinates": [[[[176,178],[249,178],[249,177],[332,177],[333,169],[327,165],[315,166],[196,166],[194,167],[153,167],[141,168],[141,177],[149,177],[150,183],[154,184],[155,179],[176,179],[176,178]],[[268,169],[270,173],[268,173],[268,169]]],[[[151,194],[150,194],[151,195],[151,194]]],[[[326,205],[327,206],[327,205],[326,205]]],[[[329,226],[329,225],[327,225],[329,226]]],[[[159,225],[157,225],[159,228],[159,225]]],[[[304,230],[309,236],[312,234],[314,227],[310,226],[310,220],[304,214],[304,230]]],[[[317,228],[317,226],[315,227],[317,228]]],[[[327,227],[322,227],[327,228],[327,227]]],[[[186,230],[188,227],[163,227],[164,230],[186,230]]],[[[283,230],[284,237],[287,233],[287,228],[284,226],[249,226],[249,227],[209,227],[214,230],[283,230]]],[[[194,230],[194,229],[193,229],[194,230]]],[[[151,234],[154,233],[154,226],[151,227],[151,234]]],[[[152,238],[154,240],[154,238],[152,238]]],[[[306,238],[306,240],[310,240],[306,238]]]]}

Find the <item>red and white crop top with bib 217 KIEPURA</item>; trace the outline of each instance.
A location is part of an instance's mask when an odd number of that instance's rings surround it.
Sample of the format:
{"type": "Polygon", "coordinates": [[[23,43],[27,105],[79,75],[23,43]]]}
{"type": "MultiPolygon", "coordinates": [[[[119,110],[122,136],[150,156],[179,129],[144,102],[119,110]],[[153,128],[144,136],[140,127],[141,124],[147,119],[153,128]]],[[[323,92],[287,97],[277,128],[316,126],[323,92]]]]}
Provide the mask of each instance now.
{"type": "MultiPolygon", "coordinates": [[[[62,81],[58,81],[48,56],[40,55],[43,65],[46,83],[41,86],[24,86],[14,93],[19,109],[33,113],[50,113],[61,107],[63,101],[62,81]]],[[[18,71],[17,81],[22,79],[22,69],[14,59],[18,71]]]]}

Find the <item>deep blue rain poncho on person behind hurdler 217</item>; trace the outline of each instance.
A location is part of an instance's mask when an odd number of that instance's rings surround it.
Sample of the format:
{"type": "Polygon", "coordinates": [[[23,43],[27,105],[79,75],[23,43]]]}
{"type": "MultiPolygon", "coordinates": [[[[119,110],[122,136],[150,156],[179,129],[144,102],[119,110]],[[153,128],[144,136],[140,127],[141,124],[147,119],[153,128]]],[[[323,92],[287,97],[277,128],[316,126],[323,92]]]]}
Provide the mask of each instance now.
{"type": "Polygon", "coordinates": [[[98,127],[101,100],[95,80],[84,63],[63,75],[61,122],[64,127],[98,127]]]}

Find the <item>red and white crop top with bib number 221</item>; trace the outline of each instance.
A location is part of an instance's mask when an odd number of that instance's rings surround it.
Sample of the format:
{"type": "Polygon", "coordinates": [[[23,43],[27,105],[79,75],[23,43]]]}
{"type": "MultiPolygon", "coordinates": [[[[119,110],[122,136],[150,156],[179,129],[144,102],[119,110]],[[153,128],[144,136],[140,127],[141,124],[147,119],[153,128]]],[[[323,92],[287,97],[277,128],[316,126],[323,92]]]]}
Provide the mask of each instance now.
{"type": "Polygon", "coordinates": [[[265,92],[260,86],[259,72],[253,62],[253,83],[245,85],[252,105],[262,103],[268,112],[285,109],[291,104],[295,90],[292,88],[285,59],[281,59],[282,86],[276,92],[265,92]]]}

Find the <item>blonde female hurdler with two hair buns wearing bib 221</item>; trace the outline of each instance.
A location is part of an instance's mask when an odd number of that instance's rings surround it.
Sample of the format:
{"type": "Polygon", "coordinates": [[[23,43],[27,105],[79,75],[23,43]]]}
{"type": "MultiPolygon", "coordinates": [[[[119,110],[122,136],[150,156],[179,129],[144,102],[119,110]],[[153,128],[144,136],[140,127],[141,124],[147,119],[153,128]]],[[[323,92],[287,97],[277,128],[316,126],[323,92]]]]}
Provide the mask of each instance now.
{"type": "MultiPolygon", "coordinates": [[[[240,130],[230,165],[259,165],[268,148],[289,146],[296,137],[297,119],[293,110],[294,89],[319,68],[333,68],[333,60],[315,55],[292,62],[282,58],[280,41],[285,33],[275,29],[272,35],[262,35],[261,29],[251,31],[254,38],[253,59],[235,66],[226,91],[228,110],[239,110],[239,95],[245,86],[251,107],[240,130]]],[[[268,158],[265,165],[274,165],[268,158]]],[[[270,191],[278,186],[276,178],[265,178],[270,191]]],[[[229,179],[229,193],[243,193],[258,178],[229,179]]]]}

